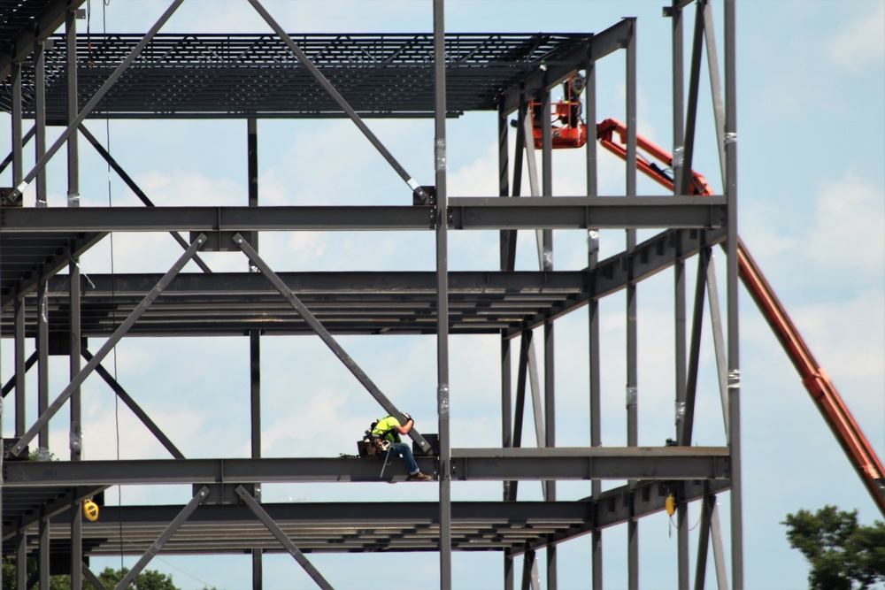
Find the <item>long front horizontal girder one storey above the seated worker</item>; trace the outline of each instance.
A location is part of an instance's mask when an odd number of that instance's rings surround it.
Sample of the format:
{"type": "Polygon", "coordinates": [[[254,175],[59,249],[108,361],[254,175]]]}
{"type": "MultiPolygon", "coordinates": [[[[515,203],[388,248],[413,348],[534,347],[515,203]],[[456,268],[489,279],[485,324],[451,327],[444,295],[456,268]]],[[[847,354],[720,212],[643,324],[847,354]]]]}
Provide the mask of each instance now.
{"type": "MultiPolygon", "coordinates": [[[[449,199],[451,229],[642,229],[720,227],[718,196],[461,197],[449,199]]],[[[46,207],[4,209],[4,234],[40,232],[249,232],[429,230],[430,206],[46,207]]]]}

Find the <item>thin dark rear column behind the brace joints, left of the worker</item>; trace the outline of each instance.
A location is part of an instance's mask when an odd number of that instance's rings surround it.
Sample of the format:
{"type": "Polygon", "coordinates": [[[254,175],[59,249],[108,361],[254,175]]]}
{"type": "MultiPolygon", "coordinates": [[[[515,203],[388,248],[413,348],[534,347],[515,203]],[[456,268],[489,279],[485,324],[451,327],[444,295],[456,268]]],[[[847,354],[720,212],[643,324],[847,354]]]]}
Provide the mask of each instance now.
{"type": "MultiPolygon", "coordinates": [[[[246,120],[246,168],[249,185],[249,206],[258,207],[258,119],[246,120]]],[[[258,231],[250,234],[252,248],[258,251],[258,231]]],[[[249,271],[258,272],[258,267],[249,261],[249,271]]],[[[249,333],[250,368],[250,417],[252,458],[261,457],[261,333],[249,333]]],[[[261,502],[261,485],[255,486],[255,500],[261,502]]],[[[264,561],[261,549],[252,549],[252,590],[264,587],[264,561]]]]}

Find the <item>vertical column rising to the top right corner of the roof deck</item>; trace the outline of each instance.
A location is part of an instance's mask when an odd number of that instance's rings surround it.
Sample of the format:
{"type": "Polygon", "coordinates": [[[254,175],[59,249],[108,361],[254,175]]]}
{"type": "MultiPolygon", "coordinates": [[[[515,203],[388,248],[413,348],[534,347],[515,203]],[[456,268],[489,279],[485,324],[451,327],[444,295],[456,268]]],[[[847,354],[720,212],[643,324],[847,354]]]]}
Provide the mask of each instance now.
{"type": "MultiPolygon", "coordinates": [[[[630,23],[627,38],[627,196],[636,195],[636,22],[630,23]]],[[[636,230],[627,230],[627,252],[636,247],[636,230]]],[[[638,412],[638,329],[636,325],[636,285],[633,282],[633,263],[631,258],[629,284],[627,285],[627,446],[635,447],[639,438],[637,434],[638,412]]],[[[627,520],[627,584],[631,588],[639,587],[639,521],[633,514],[633,488],[636,482],[627,482],[630,487],[630,519],[627,520]]]]}

